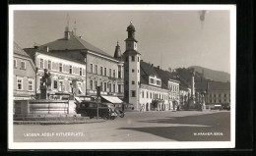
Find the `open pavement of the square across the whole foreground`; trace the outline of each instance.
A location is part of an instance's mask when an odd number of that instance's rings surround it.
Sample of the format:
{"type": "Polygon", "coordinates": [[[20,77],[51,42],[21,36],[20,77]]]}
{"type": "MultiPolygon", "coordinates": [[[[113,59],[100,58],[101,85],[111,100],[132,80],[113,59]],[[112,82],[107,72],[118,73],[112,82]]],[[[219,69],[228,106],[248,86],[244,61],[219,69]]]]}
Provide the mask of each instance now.
{"type": "Polygon", "coordinates": [[[127,112],[124,118],[74,125],[14,125],[15,142],[228,141],[230,112],[127,112]]]}

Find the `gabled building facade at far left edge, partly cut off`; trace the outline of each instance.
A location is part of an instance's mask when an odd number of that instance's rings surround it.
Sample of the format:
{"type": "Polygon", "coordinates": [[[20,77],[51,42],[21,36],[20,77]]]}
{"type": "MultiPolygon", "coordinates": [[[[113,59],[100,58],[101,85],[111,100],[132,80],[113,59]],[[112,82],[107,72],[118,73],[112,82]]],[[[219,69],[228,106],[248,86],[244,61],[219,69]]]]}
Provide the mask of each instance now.
{"type": "Polygon", "coordinates": [[[14,42],[14,100],[28,100],[35,97],[35,66],[30,56],[14,42]]]}

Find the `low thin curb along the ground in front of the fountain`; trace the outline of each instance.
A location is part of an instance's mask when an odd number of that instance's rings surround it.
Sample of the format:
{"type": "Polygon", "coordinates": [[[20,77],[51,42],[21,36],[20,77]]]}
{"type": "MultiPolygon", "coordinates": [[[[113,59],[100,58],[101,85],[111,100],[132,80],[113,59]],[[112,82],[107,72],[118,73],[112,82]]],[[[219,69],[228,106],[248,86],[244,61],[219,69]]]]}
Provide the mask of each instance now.
{"type": "Polygon", "coordinates": [[[94,121],[14,121],[14,125],[72,125],[72,124],[93,124],[103,123],[106,120],[94,120],[94,121]]]}

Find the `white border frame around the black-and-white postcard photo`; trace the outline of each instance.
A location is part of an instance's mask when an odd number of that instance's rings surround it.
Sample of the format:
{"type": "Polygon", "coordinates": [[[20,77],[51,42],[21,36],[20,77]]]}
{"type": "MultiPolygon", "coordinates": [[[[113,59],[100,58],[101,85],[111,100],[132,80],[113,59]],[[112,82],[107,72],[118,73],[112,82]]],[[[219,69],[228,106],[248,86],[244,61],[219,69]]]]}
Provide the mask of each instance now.
{"type": "Polygon", "coordinates": [[[9,149],[187,149],[235,147],[235,77],[236,77],[236,6],[235,5],[10,5],[9,6],[9,80],[8,148],[9,149]],[[230,141],[152,141],[152,142],[14,142],[13,138],[13,35],[14,11],[192,11],[226,10],[230,12],[230,141]]]}

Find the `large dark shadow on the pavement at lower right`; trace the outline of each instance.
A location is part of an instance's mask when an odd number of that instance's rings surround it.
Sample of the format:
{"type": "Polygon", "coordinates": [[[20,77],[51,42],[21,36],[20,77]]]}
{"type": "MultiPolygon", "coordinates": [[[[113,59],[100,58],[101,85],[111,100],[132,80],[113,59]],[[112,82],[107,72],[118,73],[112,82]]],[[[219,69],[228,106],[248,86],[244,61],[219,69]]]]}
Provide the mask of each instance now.
{"type": "MultiPolygon", "coordinates": [[[[170,127],[120,128],[137,130],[177,141],[229,141],[230,113],[215,113],[199,116],[165,118],[139,121],[143,123],[175,124],[170,127]],[[179,126],[180,125],[180,126],[179,126]],[[190,125],[190,126],[184,126],[190,125]],[[191,126],[195,125],[195,126],[191,126]],[[199,127],[207,126],[207,127],[199,127]],[[196,134],[195,134],[196,133],[196,134]]],[[[155,140],[158,141],[158,140],[155,140]]]]}

